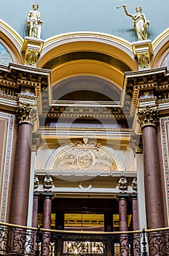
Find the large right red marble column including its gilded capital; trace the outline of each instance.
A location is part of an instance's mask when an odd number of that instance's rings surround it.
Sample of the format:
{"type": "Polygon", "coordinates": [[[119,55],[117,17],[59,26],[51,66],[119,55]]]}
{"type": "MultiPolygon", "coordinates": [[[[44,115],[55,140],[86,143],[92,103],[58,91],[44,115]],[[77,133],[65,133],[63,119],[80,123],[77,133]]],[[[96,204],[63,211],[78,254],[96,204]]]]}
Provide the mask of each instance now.
{"type": "Polygon", "coordinates": [[[160,172],[157,145],[158,110],[157,105],[139,108],[138,118],[143,136],[144,184],[146,200],[147,228],[165,227],[163,209],[162,173],[160,172]]]}

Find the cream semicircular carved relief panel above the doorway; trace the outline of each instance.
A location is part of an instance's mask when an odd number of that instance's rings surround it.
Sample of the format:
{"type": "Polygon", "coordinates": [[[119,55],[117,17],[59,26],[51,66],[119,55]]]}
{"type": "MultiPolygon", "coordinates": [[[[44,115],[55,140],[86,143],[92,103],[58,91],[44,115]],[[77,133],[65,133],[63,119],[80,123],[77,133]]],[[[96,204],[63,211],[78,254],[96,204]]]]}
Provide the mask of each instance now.
{"type": "Polygon", "coordinates": [[[71,147],[60,152],[53,166],[55,170],[118,170],[111,154],[100,144],[88,140],[71,143],[71,147]]]}

